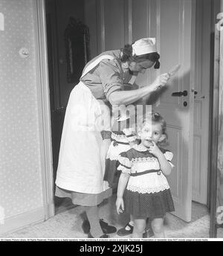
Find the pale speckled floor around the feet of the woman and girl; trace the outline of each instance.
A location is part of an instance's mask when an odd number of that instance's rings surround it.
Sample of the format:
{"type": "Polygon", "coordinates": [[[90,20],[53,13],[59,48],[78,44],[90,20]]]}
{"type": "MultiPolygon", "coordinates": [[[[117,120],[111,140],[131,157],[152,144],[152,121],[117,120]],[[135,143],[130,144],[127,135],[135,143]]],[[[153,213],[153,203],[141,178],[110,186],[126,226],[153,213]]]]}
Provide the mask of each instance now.
{"type": "MultiPolygon", "coordinates": [[[[117,228],[123,227],[128,216],[121,214],[118,216],[114,208],[115,196],[111,196],[103,205],[100,205],[100,217],[108,221],[117,228]]],[[[67,202],[66,202],[67,203],[67,202]]],[[[77,206],[60,212],[44,223],[30,225],[22,230],[4,235],[4,238],[87,238],[83,233],[83,208],[77,206]]],[[[165,219],[165,234],[168,238],[207,238],[209,237],[209,214],[204,205],[193,202],[192,221],[185,223],[183,220],[167,214],[165,219]]],[[[223,228],[219,228],[218,237],[223,237],[223,228]]],[[[117,234],[111,234],[111,238],[123,239],[129,237],[119,237],[117,234]]]]}

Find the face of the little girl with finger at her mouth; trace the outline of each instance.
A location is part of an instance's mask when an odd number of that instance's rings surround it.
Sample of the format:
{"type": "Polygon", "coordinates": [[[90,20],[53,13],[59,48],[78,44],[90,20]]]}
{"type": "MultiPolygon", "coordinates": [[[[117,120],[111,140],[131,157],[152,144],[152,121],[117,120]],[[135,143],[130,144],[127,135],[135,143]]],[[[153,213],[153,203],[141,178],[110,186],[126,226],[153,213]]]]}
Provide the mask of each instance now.
{"type": "Polygon", "coordinates": [[[152,146],[152,141],[157,144],[160,141],[163,141],[166,138],[165,135],[162,134],[162,127],[161,124],[154,123],[152,124],[146,123],[140,132],[138,132],[140,136],[141,143],[145,147],[152,146]]]}

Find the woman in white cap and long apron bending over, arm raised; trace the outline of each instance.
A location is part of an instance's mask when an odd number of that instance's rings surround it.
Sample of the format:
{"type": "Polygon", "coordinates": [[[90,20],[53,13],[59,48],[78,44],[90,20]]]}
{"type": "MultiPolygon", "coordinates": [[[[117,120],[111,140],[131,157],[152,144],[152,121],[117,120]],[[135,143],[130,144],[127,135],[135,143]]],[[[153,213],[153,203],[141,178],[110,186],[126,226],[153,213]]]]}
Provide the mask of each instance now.
{"type": "Polygon", "coordinates": [[[111,142],[108,106],[129,105],[164,86],[168,74],[161,74],[151,85],[124,91],[138,73],[152,66],[158,68],[158,59],[154,38],[106,51],[87,63],[80,83],[71,91],[62,129],[56,196],[71,197],[75,205],[85,207],[91,227],[88,237],[105,238],[116,231],[100,220],[97,208],[112,194],[103,180],[111,142]]]}

